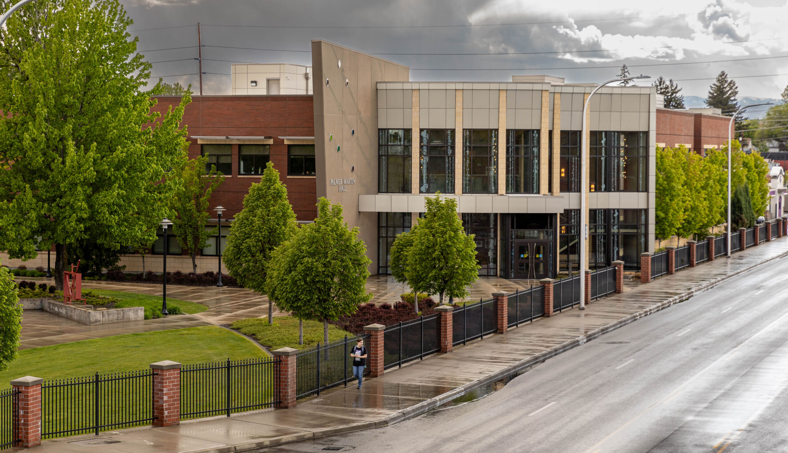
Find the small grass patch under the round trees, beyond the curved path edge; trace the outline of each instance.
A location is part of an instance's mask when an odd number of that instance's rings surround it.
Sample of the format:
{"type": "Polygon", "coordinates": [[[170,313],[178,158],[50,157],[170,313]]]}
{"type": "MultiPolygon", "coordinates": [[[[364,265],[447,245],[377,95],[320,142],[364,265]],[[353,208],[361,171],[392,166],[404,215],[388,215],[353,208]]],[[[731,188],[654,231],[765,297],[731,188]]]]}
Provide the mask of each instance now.
{"type": "MultiPolygon", "coordinates": [[[[323,342],[323,323],[320,321],[303,321],[303,344],[298,343],[298,318],[277,316],[273,318],[273,326],[264,317],[249,317],[233,322],[230,327],[244,335],[253,336],[255,340],[271,351],[280,347],[303,349],[323,342]]],[[[341,340],[344,336],[353,337],[351,332],[337,329],[329,325],[329,341],[341,340]]]]}

